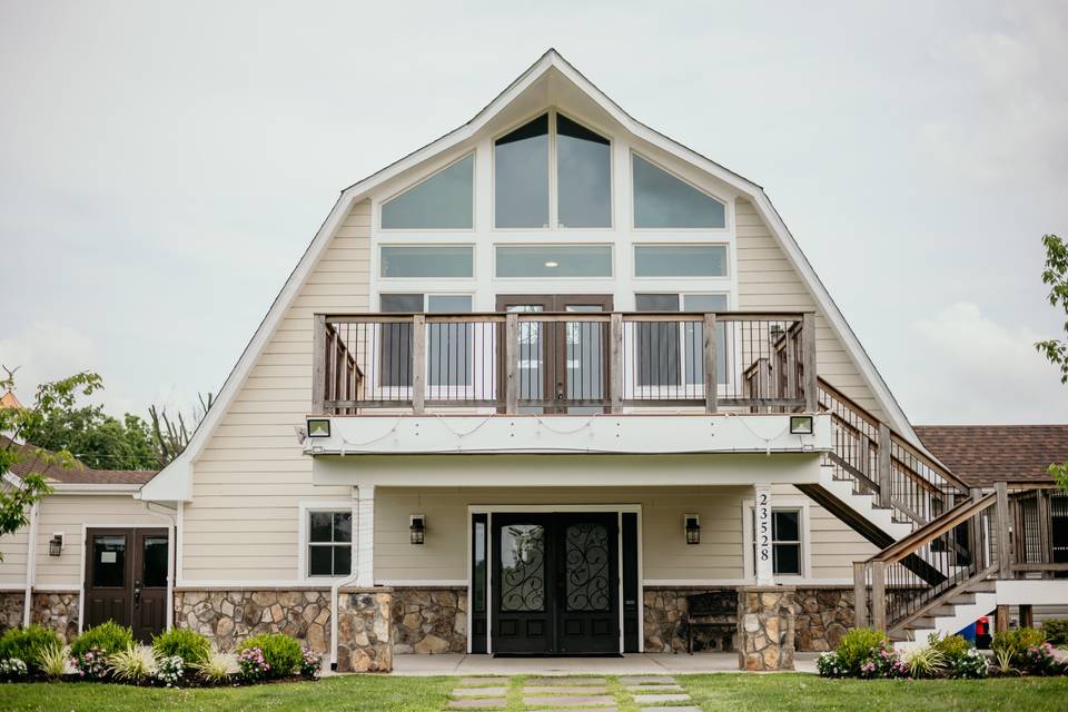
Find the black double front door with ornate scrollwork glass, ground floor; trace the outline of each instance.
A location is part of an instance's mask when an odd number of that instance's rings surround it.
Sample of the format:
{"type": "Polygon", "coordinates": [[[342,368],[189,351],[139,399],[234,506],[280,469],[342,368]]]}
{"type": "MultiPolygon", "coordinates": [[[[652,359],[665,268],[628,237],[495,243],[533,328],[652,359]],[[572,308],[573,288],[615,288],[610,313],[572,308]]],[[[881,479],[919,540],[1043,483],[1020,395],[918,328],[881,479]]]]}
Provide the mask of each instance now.
{"type": "Polygon", "coordinates": [[[620,652],[615,513],[494,514],[495,654],[620,652]]]}

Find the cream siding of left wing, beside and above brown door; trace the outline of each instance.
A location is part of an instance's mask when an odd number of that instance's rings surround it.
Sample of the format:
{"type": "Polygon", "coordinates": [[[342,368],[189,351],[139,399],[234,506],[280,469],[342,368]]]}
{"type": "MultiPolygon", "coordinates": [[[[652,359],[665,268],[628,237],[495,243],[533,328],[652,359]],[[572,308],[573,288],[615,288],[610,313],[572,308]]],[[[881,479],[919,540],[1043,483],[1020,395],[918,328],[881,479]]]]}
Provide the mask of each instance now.
{"type": "Polygon", "coordinates": [[[33,586],[48,590],[81,586],[82,526],[167,527],[170,521],[148,511],[144,502],[129,494],[53,494],[40,503],[37,520],[37,576],[33,586]],[[63,552],[48,555],[52,534],[63,533],[63,552]]]}

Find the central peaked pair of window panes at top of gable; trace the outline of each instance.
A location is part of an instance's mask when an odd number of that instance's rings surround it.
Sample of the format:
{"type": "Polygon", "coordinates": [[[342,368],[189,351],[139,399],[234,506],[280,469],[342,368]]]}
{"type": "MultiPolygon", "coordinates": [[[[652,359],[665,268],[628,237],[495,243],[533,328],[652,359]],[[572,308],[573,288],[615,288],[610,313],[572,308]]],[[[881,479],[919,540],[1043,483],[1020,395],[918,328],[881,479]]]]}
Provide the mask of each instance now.
{"type": "Polygon", "coordinates": [[[609,139],[556,112],[498,138],[494,222],[497,228],[612,227],[609,139]]]}

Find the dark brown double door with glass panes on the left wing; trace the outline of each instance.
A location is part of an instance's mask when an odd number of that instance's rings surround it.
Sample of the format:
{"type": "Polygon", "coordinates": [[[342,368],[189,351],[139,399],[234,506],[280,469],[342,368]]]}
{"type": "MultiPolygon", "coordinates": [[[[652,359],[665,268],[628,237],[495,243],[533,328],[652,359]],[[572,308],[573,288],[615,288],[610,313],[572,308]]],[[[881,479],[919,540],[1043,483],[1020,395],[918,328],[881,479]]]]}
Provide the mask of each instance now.
{"type": "Polygon", "coordinates": [[[150,643],[167,625],[169,552],[167,530],[89,530],[85,627],[115,621],[150,643]]]}

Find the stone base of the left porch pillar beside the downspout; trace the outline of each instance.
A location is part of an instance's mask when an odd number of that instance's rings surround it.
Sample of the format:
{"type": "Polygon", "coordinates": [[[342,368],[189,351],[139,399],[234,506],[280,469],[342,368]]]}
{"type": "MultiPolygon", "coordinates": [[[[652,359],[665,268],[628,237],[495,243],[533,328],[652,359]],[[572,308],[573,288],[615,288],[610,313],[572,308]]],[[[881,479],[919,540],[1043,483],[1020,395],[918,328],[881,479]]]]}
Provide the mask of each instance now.
{"type": "Polygon", "coordinates": [[[393,670],[393,590],[342,589],[337,595],[337,671],[393,670]]]}

